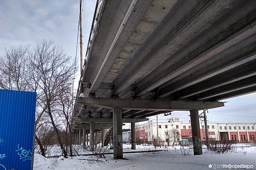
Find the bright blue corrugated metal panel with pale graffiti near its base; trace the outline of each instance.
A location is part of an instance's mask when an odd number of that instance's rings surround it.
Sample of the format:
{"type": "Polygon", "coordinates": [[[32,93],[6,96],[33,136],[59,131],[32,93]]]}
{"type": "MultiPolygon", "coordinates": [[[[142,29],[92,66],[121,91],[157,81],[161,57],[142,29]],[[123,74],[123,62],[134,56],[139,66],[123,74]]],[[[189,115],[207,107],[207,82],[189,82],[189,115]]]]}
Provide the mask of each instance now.
{"type": "Polygon", "coordinates": [[[37,94],[0,89],[0,170],[32,170],[37,94]]]}

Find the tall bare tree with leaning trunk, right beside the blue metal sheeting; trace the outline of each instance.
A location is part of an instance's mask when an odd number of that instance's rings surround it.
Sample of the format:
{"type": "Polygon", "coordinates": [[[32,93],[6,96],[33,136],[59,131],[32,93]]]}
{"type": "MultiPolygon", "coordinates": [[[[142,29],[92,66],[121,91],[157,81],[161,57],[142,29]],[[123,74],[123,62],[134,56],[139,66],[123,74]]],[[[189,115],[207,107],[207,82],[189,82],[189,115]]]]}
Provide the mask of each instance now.
{"type": "Polygon", "coordinates": [[[39,92],[38,102],[40,102],[41,108],[46,108],[45,112],[51,120],[59,146],[66,157],[67,152],[56,125],[61,120],[57,108],[59,107],[58,100],[63,94],[59,88],[71,85],[75,63],[59,46],[54,46],[51,41],[42,41],[37,44],[33,52],[29,53],[29,66],[30,77],[34,80],[34,84],[31,86],[34,86],[34,89],[39,92]]]}

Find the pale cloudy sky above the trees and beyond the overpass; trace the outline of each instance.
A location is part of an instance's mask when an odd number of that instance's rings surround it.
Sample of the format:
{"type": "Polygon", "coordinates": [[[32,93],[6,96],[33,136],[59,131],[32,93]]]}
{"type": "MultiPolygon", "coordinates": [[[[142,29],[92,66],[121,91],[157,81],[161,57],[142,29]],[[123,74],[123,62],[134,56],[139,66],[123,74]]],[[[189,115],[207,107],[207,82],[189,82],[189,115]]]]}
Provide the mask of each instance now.
{"type": "MultiPolygon", "coordinates": [[[[96,0],[83,0],[82,30],[85,55],[96,0]]],[[[34,45],[52,40],[75,58],[79,23],[79,0],[0,0],[0,55],[4,48],[34,45]]],[[[79,56],[79,51],[78,51],[79,56]]],[[[256,93],[225,100],[225,106],[208,111],[209,122],[256,123],[256,93]]],[[[199,112],[201,113],[201,111],[199,112]]],[[[189,112],[159,115],[158,120],[180,117],[188,122],[189,112]]],[[[156,121],[156,117],[151,120],[156,121]]],[[[129,127],[128,125],[126,127],[129,127]]]]}

